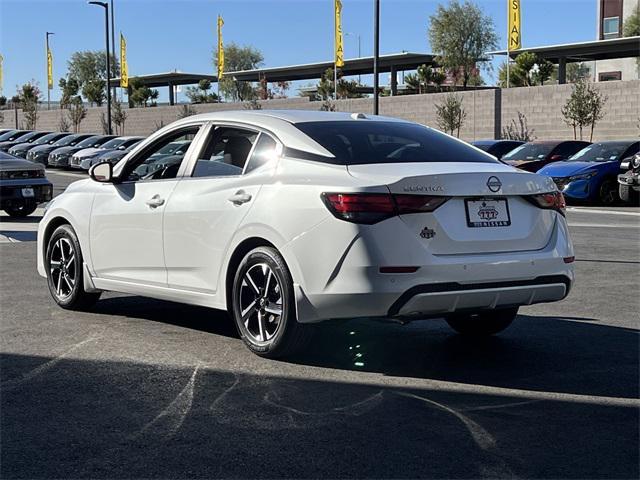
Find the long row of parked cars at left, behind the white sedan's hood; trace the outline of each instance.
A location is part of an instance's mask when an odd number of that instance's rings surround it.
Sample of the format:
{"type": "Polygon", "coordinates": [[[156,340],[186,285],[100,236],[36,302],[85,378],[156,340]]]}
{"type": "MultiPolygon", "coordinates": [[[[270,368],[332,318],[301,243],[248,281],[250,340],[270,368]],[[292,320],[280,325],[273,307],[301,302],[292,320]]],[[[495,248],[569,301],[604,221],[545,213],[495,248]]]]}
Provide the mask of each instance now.
{"type": "Polygon", "coordinates": [[[89,170],[103,161],[117,163],[142,139],[91,133],[0,130],[0,151],[45,167],[89,170]]]}

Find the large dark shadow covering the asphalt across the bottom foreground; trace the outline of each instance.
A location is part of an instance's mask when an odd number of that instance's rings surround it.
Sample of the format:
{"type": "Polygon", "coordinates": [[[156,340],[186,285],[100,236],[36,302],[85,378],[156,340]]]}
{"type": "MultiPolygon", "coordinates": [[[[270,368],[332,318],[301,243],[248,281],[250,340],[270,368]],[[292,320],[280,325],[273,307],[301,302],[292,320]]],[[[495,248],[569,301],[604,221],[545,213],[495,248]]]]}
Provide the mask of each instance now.
{"type": "Polygon", "coordinates": [[[1,478],[638,476],[629,407],[149,359],[0,362],[1,478]]]}

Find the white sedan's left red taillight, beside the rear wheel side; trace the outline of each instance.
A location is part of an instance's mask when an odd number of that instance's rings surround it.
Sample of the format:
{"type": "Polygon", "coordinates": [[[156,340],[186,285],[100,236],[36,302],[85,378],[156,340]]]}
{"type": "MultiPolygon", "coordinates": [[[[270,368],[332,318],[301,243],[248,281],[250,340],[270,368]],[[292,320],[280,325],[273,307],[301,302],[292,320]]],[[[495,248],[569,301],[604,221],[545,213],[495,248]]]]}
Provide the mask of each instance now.
{"type": "Polygon", "coordinates": [[[371,225],[396,215],[433,212],[448,197],[388,193],[323,193],[322,200],[336,218],[371,225]]]}

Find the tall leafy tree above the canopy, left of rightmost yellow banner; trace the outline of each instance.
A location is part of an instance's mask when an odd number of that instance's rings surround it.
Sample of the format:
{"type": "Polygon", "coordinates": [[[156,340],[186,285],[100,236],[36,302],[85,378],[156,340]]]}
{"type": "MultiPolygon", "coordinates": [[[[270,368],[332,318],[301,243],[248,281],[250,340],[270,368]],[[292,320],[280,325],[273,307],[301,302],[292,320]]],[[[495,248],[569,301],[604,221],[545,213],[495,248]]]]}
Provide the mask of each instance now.
{"type": "Polygon", "coordinates": [[[475,69],[491,68],[485,53],[498,48],[498,36],[480,7],[469,0],[451,0],[446,7],[439,5],[429,20],[431,49],[456,83],[466,87],[475,69]]]}

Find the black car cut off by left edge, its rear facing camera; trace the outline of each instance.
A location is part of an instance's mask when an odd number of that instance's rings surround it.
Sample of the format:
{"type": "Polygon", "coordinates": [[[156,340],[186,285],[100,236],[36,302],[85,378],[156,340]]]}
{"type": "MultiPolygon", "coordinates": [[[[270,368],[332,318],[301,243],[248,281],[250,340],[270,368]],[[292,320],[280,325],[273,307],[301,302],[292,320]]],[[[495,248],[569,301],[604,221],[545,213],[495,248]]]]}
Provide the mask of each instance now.
{"type": "Polygon", "coordinates": [[[0,152],[0,210],[26,217],[52,195],[53,185],[42,165],[0,152]]]}

